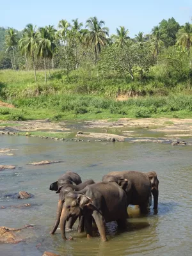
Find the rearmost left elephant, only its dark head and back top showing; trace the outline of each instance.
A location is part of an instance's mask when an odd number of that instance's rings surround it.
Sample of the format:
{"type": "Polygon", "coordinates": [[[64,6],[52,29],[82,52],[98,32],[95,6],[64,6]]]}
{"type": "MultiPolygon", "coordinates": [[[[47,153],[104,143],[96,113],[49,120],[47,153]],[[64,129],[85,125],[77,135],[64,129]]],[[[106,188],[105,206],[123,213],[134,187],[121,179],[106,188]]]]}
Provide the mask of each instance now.
{"type": "Polygon", "coordinates": [[[79,185],[80,183],[82,183],[81,177],[75,173],[75,172],[70,172],[67,171],[66,173],[64,173],[63,175],[60,176],[60,178],[58,179],[58,181],[53,182],[50,185],[49,190],[54,190],[54,191],[58,191],[58,189],[65,183],[68,183],[68,180],[70,180],[71,182],[74,182],[76,185],[79,185]],[[67,180],[67,181],[66,181],[67,180]]]}

